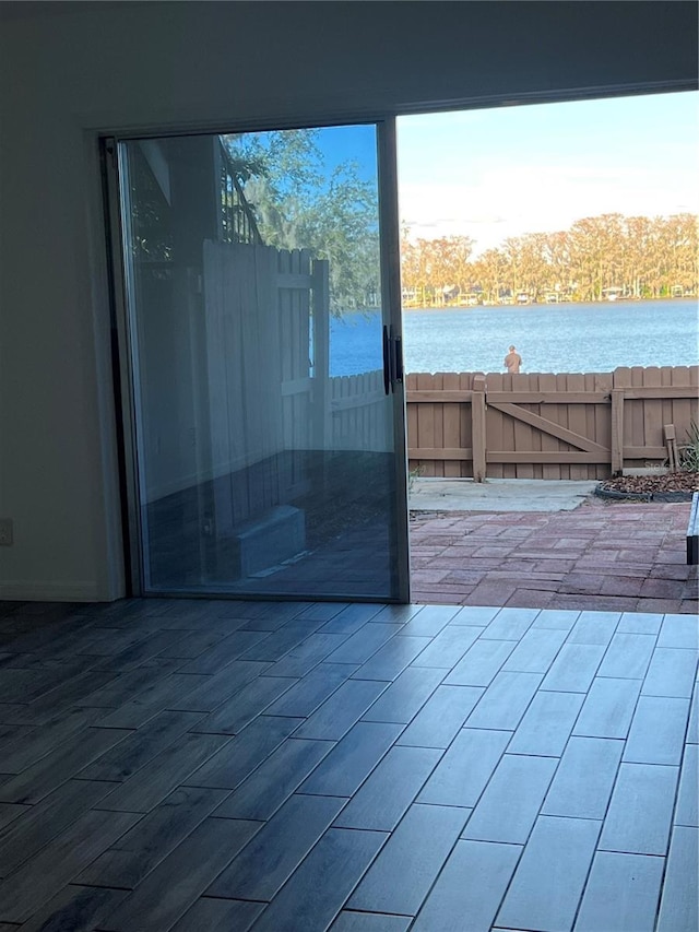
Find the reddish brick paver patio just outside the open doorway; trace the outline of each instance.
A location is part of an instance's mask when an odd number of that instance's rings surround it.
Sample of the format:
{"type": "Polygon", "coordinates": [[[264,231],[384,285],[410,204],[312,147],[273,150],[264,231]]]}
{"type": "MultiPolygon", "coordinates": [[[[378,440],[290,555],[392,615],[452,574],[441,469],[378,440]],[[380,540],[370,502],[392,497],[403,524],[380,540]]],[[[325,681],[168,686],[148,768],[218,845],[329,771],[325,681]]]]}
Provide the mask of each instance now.
{"type": "Polygon", "coordinates": [[[574,511],[413,512],[412,600],[696,613],[689,508],[591,498],[574,511]]]}

